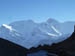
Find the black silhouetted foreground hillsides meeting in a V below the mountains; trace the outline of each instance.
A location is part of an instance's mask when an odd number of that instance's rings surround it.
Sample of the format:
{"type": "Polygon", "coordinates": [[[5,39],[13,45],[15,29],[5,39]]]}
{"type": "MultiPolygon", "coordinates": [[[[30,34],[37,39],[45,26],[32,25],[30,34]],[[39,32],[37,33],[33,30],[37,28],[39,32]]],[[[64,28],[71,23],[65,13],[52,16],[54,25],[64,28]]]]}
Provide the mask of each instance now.
{"type": "Polygon", "coordinates": [[[20,45],[12,43],[8,40],[0,38],[0,56],[27,56],[29,53],[35,53],[40,50],[56,54],[57,56],[75,56],[75,29],[73,34],[66,40],[52,44],[52,45],[39,45],[37,48],[32,47],[26,49],[20,45]]]}

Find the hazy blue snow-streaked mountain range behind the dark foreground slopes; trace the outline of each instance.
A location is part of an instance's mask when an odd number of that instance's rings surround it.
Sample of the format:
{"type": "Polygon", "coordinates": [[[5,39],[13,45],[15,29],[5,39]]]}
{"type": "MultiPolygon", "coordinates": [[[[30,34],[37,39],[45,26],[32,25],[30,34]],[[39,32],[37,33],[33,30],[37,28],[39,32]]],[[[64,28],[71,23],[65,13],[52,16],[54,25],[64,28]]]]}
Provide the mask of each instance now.
{"type": "Polygon", "coordinates": [[[16,21],[0,27],[0,37],[25,48],[58,43],[67,39],[74,31],[75,22],[60,23],[54,19],[35,23],[32,20],[16,21]]]}

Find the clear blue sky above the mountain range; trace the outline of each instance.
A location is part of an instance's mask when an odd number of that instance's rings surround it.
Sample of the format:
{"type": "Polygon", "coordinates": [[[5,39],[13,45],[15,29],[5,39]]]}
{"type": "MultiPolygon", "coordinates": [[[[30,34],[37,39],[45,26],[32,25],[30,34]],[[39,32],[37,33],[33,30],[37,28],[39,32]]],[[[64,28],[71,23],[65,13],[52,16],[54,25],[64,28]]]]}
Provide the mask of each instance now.
{"type": "Polygon", "coordinates": [[[75,21],[75,0],[0,0],[0,24],[48,18],[75,21]]]}

